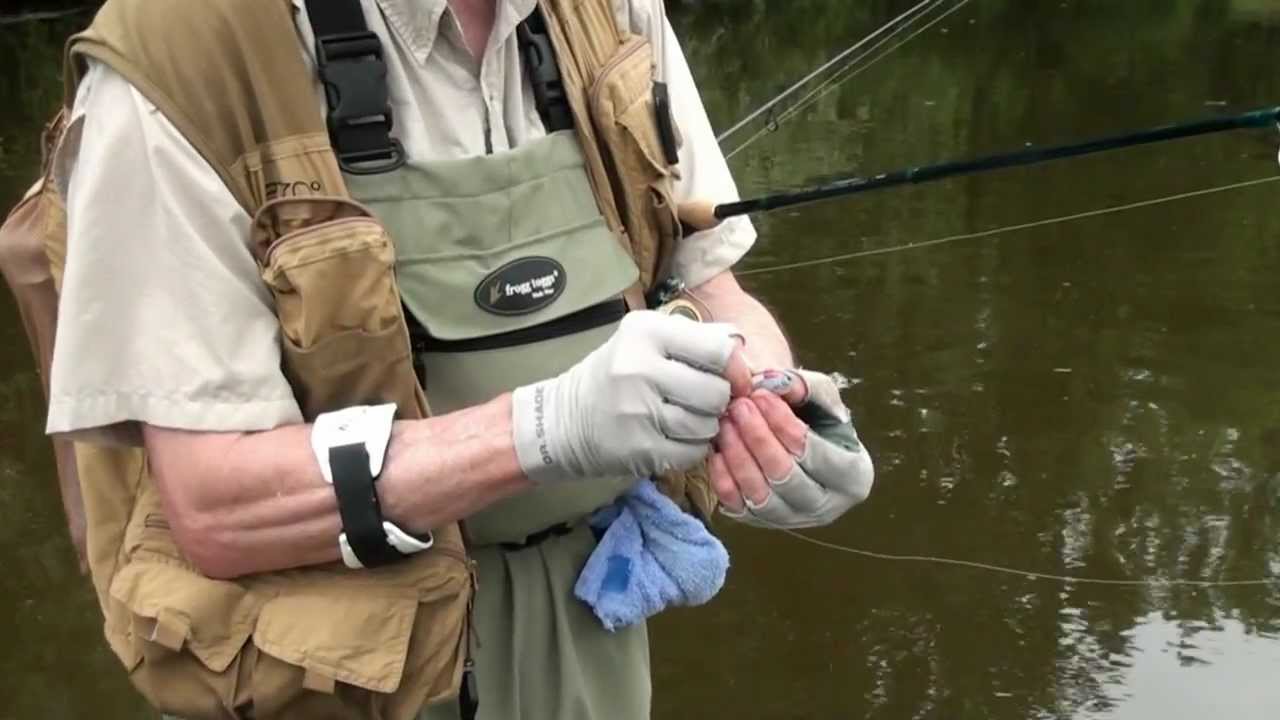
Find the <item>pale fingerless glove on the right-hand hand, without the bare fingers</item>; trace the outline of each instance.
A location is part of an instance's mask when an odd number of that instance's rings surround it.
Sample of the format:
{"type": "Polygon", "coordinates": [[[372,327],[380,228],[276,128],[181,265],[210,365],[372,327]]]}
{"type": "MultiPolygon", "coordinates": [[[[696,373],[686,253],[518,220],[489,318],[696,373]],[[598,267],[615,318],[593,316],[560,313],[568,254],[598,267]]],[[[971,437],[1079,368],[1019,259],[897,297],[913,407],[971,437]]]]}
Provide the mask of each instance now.
{"type": "Polygon", "coordinates": [[[746,500],[741,512],[721,509],[749,525],[786,529],[828,525],[867,500],[876,482],[872,457],[858,439],[835,380],[810,370],[792,372],[809,388],[808,398],[796,409],[796,416],[809,425],[805,450],[786,478],[769,483],[772,492],[763,503],[746,500]]]}

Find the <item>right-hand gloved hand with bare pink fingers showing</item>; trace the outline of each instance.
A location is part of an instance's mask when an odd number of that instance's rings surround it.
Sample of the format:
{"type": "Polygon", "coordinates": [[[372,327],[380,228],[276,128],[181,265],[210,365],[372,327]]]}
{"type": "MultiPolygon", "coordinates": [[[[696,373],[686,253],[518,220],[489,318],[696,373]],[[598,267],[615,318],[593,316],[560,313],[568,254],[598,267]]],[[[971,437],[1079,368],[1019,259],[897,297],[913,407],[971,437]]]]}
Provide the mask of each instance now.
{"type": "Polygon", "coordinates": [[[722,511],[733,519],[826,525],[870,493],[870,456],[835,383],[819,373],[796,377],[803,382],[781,397],[756,389],[735,398],[721,420],[709,469],[722,511]]]}

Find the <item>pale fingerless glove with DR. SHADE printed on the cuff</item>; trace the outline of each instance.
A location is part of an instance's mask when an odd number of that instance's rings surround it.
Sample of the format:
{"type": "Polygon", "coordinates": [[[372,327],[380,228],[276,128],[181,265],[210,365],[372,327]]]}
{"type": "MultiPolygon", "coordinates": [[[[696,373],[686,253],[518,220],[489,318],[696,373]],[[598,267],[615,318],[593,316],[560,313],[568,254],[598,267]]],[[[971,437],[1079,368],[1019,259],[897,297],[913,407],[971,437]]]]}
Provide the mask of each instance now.
{"type": "Polygon", "coordinates": [[[534,482],[645,478],[707,457],[730,401],[735,331],[630,313],[562,375],[516,388],[516,455],[534,482]]]}

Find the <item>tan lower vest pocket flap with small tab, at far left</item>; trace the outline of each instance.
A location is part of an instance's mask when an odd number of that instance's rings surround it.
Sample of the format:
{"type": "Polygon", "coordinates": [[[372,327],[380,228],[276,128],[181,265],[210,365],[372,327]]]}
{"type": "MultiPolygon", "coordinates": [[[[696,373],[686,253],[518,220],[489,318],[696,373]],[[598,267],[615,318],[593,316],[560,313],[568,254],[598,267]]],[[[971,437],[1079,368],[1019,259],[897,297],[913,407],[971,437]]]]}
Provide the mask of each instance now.
{"type": "Polygon", "coordinates": [[[221,673],[253,632],[261,598],[237,583],[214,580],[166,562],[134,560],[111,579],[111,597],[133,615],[133,643],[187,650],[221,673]]]}

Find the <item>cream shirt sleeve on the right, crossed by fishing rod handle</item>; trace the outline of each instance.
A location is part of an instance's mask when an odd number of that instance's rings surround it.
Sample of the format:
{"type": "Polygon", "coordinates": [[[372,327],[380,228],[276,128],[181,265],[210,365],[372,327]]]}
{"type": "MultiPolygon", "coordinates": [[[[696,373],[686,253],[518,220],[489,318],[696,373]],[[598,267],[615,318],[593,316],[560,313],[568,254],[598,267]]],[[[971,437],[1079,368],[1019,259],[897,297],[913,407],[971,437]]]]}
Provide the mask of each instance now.
{"type": "MultiPolygon", "coordinates": [[[[630,0],[628,5],[632,31],[653,38],[662,56],[672,114],[684,140],[680,181],[675,187],[676,202],[709,200],[719,205],[739,200],[737,184],[716,140],[680,40],[662,14],[663,4],[658,0],[630,0]]],[[[621,8],[616,6],[616,10],[621,8]]],[[[690,287],[696,287],[732,268],[755,245],[755,228],[745,217],[731,218],[714,229],[686,236],[676,250],[672,273],[690,287]]]]}

